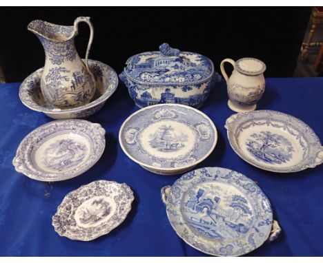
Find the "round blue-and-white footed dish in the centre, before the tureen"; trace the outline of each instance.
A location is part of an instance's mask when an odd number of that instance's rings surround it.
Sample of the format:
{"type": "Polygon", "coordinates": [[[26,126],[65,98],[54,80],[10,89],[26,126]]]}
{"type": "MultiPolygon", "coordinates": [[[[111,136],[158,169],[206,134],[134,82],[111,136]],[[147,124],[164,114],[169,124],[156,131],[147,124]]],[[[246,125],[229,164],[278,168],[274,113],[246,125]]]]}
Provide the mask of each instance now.
{"type": "Polygon", "coordinates": [[[120,128],[119,143],[144,169],[172,175],[188,171],[211,154],[217,129],[193,107],[159,104],[130,115],[120,128]]]}

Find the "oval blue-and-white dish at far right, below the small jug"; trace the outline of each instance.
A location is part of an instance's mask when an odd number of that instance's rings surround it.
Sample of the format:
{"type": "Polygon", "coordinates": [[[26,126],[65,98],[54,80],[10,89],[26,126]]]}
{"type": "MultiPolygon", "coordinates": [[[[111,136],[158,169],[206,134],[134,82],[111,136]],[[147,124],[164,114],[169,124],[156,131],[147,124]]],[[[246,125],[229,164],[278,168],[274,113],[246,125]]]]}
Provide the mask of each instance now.
{"type": "Polygon", "coordinates": [[[233,114],[225,127],[233,150],[260,169],[288,173],[323,162],[320,139],[291,115],[272,110],[233,114]]]}

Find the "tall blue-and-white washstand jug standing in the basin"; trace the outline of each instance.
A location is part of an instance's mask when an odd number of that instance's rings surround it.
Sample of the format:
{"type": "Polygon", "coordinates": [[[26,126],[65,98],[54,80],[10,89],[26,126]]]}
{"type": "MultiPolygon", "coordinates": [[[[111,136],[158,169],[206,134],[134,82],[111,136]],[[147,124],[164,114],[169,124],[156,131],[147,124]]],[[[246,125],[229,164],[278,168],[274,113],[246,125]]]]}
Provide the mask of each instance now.
{"type": "Polygon", "coordinates": [[[29,23],[28,30],[38,36],[46,54],[41,76],[41,92],[46,102],[60,109],[89,103],[95,94],[95,80],[88,66],[93,39],[90,17],[77,17],[72,26],[35,20],[29,23]],[[90,26],[85,63],[77,54],[74,43],[80,22],[90,26]]]}

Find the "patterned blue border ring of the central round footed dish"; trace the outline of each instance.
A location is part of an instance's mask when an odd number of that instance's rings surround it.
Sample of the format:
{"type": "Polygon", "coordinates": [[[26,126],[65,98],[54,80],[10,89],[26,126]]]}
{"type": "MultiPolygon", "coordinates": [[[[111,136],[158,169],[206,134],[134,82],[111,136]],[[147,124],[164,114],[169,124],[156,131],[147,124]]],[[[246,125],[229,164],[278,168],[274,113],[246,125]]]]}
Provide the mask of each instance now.
{"type": "Polygon", "coordinates": [[[124,145],[124,150],[127,154],[144,165],[160,165],[160,167],[156,168],[161,169],[184,167],[202,159],[208,154],[215,140],[217,140],[217,131],[213,129],[210,120],[199,114],[199,112],[187,106],[166,104],[147,107],[143,111],[135,113],[129,120],[126,120],[120,134],[120,143],[124,145]],[[173,120],[188,126],[195,134],[193,149],[183,156],[177,156],[177,158],[161,158],[148,154],[139,143],[141,132],[161,119],[173,120]]]}

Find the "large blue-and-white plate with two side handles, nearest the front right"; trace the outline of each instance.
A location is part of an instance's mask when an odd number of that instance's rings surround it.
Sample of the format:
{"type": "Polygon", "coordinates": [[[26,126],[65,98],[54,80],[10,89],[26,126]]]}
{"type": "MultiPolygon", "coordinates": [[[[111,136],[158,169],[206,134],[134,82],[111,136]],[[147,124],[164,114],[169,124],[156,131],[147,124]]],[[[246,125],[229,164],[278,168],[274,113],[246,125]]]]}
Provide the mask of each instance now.
{"type": "Polygon", "coordinates": [[[242,173],[220,167],[190,171],[161,189],[177,235],[209,255],[249,253],[281,229],[262,190],[242,173]],[[272,228],[273,227],[273,228],[272,228]]]}

